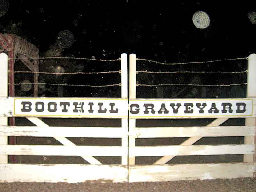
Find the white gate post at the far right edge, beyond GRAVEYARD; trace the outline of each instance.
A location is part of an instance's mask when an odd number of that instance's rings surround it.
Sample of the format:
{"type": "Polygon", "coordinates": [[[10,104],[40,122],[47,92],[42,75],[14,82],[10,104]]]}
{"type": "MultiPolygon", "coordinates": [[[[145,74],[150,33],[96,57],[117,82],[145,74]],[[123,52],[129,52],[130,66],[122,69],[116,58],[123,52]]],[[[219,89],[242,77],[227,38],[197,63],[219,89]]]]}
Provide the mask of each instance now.
{"type": "MultiPolygon", "coordinates": [[[[256,54],[251,54],[248,57],[248,74],[247,74],[247,97],[256,97],[256,54]]],[[[256,118],[246,118],[246,126],[255,126],[256,118]]],[[[255,136],[245,136],[244,144],[255,144],[255,136]]],[[[255,162],[256,156],[254,154],[244,155],[244,162],[255,162]]]]}

